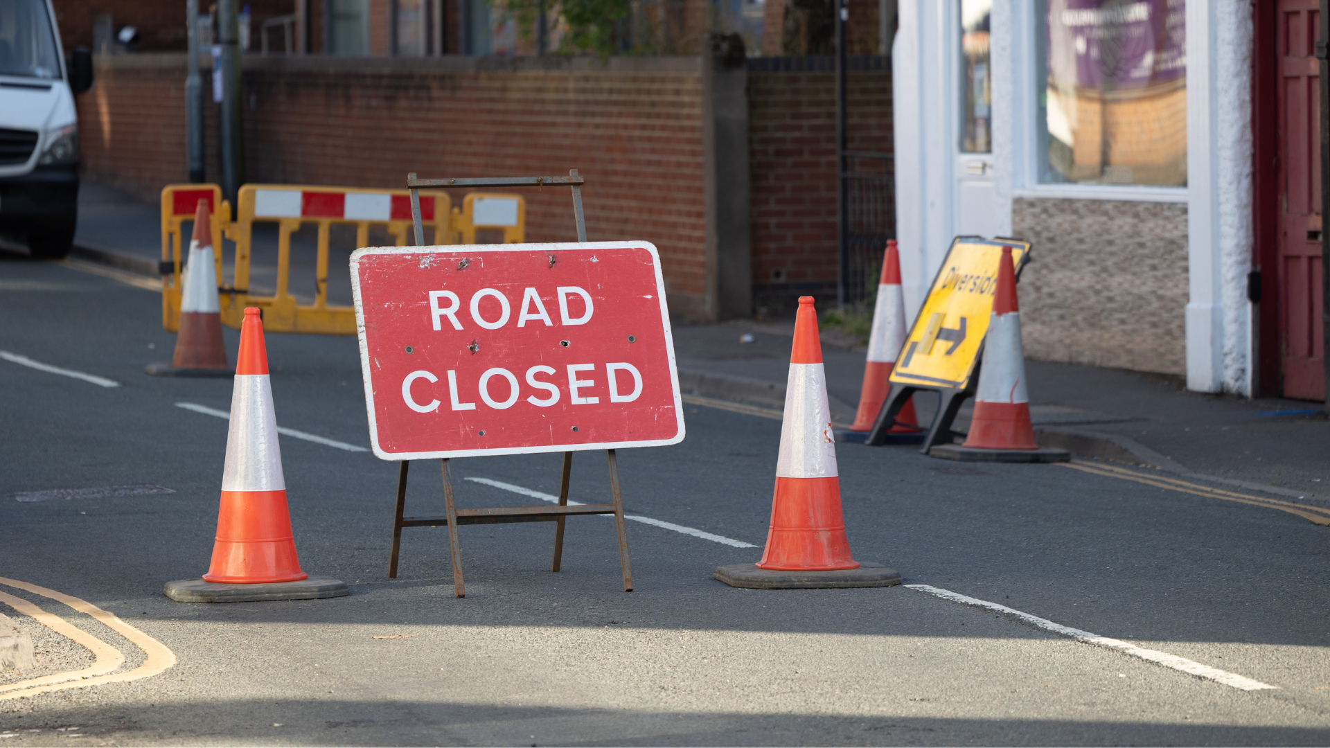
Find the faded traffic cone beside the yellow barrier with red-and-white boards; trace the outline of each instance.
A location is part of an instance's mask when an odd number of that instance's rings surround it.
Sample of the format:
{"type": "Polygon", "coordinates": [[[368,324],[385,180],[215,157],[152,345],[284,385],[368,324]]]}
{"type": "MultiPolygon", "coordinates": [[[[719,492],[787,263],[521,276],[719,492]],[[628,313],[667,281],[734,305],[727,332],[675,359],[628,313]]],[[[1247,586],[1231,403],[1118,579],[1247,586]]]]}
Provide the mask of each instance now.
{"type": "Polygon", "coordinates": [[[149,363],[146,371],[158,377],[230,377],[226,347],[222,345],[222,307],[217,301],[217,268],[213,258],[213,229],[207,201],[198,201],[194,234],[189,240],[189,261],[181,273],[180,333],[170,366],[149,363]]]}

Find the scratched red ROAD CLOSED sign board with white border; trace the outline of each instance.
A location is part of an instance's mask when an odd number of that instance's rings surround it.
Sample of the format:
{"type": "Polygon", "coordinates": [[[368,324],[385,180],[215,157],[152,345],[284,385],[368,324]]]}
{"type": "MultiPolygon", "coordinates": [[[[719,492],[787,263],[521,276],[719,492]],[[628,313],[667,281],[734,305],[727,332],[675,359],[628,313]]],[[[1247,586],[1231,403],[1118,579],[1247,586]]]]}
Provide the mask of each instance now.
{"type": "Polygon", "coordinates": [[[367,248],[351,285],[382,459],[684,439],[648,242],[367,248]]]}

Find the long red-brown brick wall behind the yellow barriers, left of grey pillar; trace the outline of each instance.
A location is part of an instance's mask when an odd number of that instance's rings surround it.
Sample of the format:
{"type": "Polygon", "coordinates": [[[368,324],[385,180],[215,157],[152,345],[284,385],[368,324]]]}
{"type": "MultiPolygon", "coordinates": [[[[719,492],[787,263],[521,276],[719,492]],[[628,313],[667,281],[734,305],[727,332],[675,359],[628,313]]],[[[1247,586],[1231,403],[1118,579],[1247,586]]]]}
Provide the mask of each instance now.
{"type": "MultiPolygon", "coordinates": [[[[185,56],[98,57],[97,76],[78,97],[89,176],[145,198],[185,181],[185,56]]],[[[250,182],[398,188],[407,172],[580,169],[588,238],[656,244],[672,309],[704,317],[696,57],[246,57],[245,94],[250,182]]],[[[529,241],[576,238],[568,190],[523,194],[529,241]]]]}

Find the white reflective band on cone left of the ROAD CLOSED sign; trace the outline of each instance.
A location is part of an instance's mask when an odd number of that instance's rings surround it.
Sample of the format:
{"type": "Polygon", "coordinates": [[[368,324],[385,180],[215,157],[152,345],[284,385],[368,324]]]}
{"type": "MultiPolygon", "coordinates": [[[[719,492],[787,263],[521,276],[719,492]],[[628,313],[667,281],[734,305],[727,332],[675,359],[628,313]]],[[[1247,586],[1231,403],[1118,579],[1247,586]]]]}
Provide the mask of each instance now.
{"type": "Polygon", "coordinates": [[[285,491],[282,451],[267,374],[237,374],[226,431],[223,491],[285,491]]]}

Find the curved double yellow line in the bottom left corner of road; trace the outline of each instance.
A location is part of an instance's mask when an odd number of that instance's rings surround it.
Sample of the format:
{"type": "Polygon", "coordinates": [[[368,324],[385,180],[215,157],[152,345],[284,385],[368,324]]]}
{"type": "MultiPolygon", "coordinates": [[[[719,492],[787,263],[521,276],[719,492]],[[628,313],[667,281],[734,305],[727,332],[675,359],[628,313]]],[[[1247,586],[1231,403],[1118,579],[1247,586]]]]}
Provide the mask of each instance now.
{"type": "Polygon", "coordinates": [[[4,685],[0,685],[0,701],[7,699],[23,699],[25,696],[35,696],[48,691],[63,691],[65,688],[82,688],[85,685],[124,683],[126,680],[152,677],[176,664],[176,654],[168,650],[165,644],[120,620],[116,614],[104,611],[97,606],[72,595],[56,592],[55,590],[48,590],[45,587],[37,587],[36,584],[28,584],[27,582],[19,582],[17,579],[0,576],[0,584],[16,587],[19,590],[32,592],[33,595],[41,595],[43,598],[57,600],[81,614],[88,614],[116,634],[120,634],[125,639],[133,642],[133,644],[142,650],[145,655],[144,661],[134,669],[114,672],[120,665],[125,664],[125,655],[122,655],[120,650],[106,644],[101,639],[97,639],[92,634],[88,634],[65,619],[41,610],[23,598],[16,598],[8,592],[0,592],[0,603],[12,607],[23,615],[32,616],[56,634],[86,647],[94,657],[93,663],[84,669],[57,672],[55,675],[29,677],[28,680],[20,680],[16,683],[5,683],[4,685]]]}

